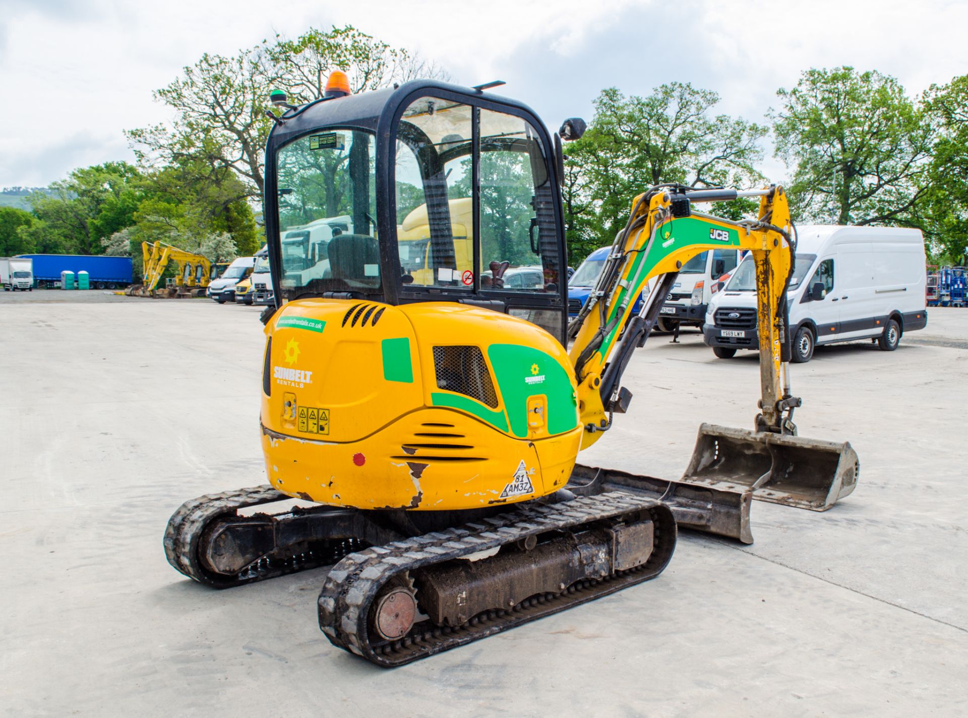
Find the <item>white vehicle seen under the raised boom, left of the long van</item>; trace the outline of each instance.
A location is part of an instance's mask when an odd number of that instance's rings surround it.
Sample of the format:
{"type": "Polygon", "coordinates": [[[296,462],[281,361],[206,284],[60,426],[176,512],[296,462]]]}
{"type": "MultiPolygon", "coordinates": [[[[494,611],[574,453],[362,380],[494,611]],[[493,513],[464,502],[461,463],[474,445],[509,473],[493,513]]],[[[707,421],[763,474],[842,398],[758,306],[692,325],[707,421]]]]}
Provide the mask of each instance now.
{"type": "Polygon", "coordinates": [[[697,254],[682,265],[679,277],[659,309],[658,328],[702,327],[711,298],[729,280],[740,262],[736,249],[714,249],[697,254]]]}

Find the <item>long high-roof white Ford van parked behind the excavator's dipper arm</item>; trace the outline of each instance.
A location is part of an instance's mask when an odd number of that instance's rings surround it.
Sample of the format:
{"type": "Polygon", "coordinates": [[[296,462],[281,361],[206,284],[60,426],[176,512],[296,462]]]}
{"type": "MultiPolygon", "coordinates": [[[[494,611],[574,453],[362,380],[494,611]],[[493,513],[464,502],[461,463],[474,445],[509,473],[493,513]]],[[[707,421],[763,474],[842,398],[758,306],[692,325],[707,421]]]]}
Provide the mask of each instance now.
{"type": "MultiPolygon", "coordinates": [[[[801,227],[787,292],[794,361],[809,361],[818,344],[876,341],[892,352],[905,331],[927,325],[924,239],[919,230],[886,227],[801,227]]],[[[712,297],[703,340],[716,357],[758,349],[756,277],[743,259],[726,288],[712,297]]]]}

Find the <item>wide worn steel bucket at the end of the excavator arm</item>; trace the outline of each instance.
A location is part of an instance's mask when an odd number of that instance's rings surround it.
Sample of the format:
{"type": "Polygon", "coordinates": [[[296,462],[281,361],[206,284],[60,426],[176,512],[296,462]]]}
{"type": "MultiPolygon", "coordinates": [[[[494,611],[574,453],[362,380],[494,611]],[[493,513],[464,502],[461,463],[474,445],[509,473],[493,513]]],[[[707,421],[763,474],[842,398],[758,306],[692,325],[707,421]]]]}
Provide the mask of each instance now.
{"type": "Polygon", "coordinates": [[[847,442],[714,426],[699,427],[682,481],[810,511],[827,511],[857,485],[860,463],[847,442]]]}

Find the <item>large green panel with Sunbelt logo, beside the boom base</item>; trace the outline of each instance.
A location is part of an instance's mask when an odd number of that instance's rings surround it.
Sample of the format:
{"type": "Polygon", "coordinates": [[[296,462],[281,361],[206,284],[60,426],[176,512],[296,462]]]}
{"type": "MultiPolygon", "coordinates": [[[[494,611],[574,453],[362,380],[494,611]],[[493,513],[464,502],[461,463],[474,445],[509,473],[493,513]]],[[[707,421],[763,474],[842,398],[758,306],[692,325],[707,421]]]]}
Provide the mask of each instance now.
{"type": "Polygon", "coordinates": [[[578,425],[575,390],[554,357],[517,344],[492,344],[487,355],[515,436],[528,436],[528,398],[537,394],[548,397],[549,434],[570,431],[578,425]]]}

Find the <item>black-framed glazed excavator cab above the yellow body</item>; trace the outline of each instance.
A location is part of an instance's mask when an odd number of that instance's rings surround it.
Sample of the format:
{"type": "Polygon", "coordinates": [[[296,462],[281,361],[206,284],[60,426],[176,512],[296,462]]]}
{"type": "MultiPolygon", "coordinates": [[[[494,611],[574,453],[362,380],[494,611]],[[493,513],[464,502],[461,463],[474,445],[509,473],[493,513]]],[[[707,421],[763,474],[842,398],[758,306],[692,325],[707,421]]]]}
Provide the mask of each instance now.
{"type": "Polygon", "coordinates": [[[416,81],[281,122],[265,191],[279,306],[453,301],[524,318],[564,345],[560,142],[527,106],[416,81]]]}

